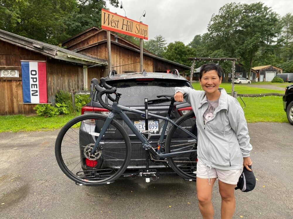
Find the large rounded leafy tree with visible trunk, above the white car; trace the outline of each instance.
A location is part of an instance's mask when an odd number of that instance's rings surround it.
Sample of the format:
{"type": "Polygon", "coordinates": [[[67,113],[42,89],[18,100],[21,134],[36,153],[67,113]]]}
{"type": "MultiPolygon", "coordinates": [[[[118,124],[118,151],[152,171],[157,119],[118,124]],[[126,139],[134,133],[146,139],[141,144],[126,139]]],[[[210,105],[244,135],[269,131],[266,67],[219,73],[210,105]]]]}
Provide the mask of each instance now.
{"type": "Polygon", "coordinates": [[[226,4],[213,15],[208,25],[213,49],[223,49],[230,57],[241,57],[251,72],[260,47],[273,45],[281,32],[277,13],[263,3],[226,4]]]}

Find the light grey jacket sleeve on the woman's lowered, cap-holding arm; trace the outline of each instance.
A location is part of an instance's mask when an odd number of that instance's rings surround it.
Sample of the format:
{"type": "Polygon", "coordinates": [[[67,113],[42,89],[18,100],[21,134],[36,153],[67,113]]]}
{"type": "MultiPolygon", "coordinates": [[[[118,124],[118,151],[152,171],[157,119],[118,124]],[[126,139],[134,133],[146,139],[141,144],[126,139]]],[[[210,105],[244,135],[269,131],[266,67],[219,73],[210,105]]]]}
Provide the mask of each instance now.
{"type": "Polygon", "coordinates": [[[236,133],[243,158],[249,157],[252,146],[248,135],[247,122],[239,102],[234,97],[232,98],[234,99],[234,104],[229,105],[229,110],[227,112],[229,123],[236,133]]]}

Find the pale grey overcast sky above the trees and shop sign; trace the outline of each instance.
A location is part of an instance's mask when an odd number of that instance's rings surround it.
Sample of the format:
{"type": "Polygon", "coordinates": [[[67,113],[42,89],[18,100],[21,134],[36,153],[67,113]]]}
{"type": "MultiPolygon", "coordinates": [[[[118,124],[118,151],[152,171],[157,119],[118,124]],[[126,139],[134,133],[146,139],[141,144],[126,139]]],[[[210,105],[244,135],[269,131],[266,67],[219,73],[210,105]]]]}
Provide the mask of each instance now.
{"type": "MultiPolygon", "coordinates": [[[[121,2],[121,1],[120,1],[121,2]]],[[[167,43],[181,41],[187,45],[197,34],[207,32],[207,25],[212,14],[217,14],[227,0],[123,0],[123,9],[108,4],[111,12],[139,21],[146,10],[146,16],[141,21],[149,26],[149,40],[156,35],[165,37],[167,43]]],[[[258,1],[235,1],[251,4],[258,1]]],[[[263,0],[266,6],[284,16],[293,13],[292,0],[263,0]]]]}

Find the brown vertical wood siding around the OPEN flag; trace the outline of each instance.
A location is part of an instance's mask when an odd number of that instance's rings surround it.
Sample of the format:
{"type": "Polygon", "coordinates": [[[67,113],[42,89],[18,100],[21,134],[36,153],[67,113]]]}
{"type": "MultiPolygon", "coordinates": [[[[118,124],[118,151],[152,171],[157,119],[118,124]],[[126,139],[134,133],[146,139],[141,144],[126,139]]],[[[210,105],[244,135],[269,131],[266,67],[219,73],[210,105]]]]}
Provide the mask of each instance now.
{"type": "MultiPolygon", "coordinates": [[[[0,40],[0,69],[17,69],[18,78],[0,77],[0,115],[35,114],[36,104],[23,104],[21,60],[46,61],[47,68],[47,98],[48,103],[55,102],[55,94],[59,90],[83,90],[83,65],[67,61],[47,58],[11,43],[0,40]]],[[[88,69],[88,87],[91,78],[105,77],[105,67],[88,69]]]]}

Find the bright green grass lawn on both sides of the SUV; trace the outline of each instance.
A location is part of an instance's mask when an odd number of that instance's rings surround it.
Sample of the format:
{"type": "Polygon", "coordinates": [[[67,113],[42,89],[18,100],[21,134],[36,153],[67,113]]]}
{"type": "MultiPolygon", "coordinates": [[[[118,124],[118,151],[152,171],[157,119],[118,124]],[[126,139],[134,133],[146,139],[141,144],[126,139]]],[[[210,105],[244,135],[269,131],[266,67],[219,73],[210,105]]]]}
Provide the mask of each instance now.
{"type": "MultiPolygon", "coordinates": [[[[258,82],[253,83],[258,85],[271,84],[284,88],[288,83],[271,83],[258,82]]],[[[193,83],[196,90],[201,90],[199,82],[193,83]]],[[[227,93],[231,93],[231,83],[222,83],[221,86],[227,93]]],[[[249,87],[247,85],[235,84],[234,89],[238,94],[258,94],[258,93],[284,93],[280,90],[270,90],[264,88],[249,87]]],[[[288,122],[286,113],[283,110],[281,96],[266,96],[266,97],[242,97],[246,107],[244,113],[247,122],[288,122]]],[[[238,97],[240,105],[244,107],[240,97],[238,97]]],[[[37,117],[37,116],[0,116],[0,132],[18,132],[18,131],[49,131],[60,129],[70,119],[79,115],[67,115],[57,117],[37,117]]]]}

